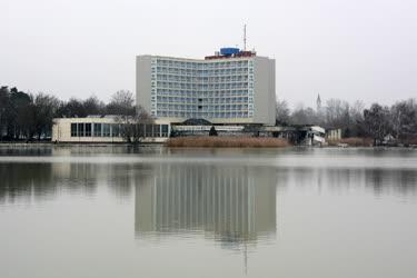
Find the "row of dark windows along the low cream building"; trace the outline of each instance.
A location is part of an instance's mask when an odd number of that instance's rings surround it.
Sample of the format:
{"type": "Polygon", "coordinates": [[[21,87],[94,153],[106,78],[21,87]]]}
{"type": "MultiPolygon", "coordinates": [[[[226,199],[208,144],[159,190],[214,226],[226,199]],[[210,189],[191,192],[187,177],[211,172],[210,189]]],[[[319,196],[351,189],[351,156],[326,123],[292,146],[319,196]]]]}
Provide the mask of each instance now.
{"type": "MultiPolygon", "coordinates": [[[[139,123],[140,137],[168,137],[168,125],[139,123]]],[[[71,122],[71,137],[121,137],[123,125],[71,122]]]]}

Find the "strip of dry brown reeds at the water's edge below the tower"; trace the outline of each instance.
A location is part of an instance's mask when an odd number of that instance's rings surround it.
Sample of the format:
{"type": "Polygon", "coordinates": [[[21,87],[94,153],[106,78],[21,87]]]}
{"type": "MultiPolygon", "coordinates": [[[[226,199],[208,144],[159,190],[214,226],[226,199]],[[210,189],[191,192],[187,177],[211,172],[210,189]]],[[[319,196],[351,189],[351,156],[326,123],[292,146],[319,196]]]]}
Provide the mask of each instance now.
{"type": "Polygon", "coordinates": [[[281,148],[289,147],[287,140],[262,137],[179,137],[166,141],[167,147],[203,148],[281,148]]]}

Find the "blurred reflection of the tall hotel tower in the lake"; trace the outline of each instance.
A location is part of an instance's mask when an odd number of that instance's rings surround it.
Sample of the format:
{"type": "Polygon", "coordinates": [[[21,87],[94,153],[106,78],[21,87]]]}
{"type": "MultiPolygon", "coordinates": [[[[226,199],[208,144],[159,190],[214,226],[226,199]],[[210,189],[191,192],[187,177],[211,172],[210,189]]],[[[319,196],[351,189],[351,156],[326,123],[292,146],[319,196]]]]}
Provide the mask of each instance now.
{"type": "Polygon", "coordinates": [[[276,235],[274,168],[161,165],[136,185],[138,237],[203,234],[239,247],[276,235]]]}

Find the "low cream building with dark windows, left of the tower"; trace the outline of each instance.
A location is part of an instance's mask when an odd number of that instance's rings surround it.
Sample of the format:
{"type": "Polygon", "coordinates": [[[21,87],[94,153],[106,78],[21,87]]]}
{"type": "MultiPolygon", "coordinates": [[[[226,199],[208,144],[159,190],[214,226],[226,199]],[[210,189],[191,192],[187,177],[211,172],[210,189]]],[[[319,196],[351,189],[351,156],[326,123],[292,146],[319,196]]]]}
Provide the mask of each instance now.
{"type": "MultiPolygon", "coordinates": [[[[169,122],[156,120],[140,123],[143,142],[163,142],[170,133],[169,122]]],[[[54,142],[123,142],[121,123],[115,117],[57,118],[53,119],[54,142]]]]}

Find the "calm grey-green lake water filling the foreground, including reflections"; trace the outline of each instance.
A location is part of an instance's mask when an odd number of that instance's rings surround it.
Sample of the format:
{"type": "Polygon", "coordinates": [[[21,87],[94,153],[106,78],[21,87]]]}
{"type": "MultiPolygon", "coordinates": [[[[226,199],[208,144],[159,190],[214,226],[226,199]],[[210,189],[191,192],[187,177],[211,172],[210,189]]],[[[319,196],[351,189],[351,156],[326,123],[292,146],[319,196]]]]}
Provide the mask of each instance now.
{"type": "Polygon", "coordinates": [[[417,277],[417,150],[0,147],[0,277],[417,277]]]}

